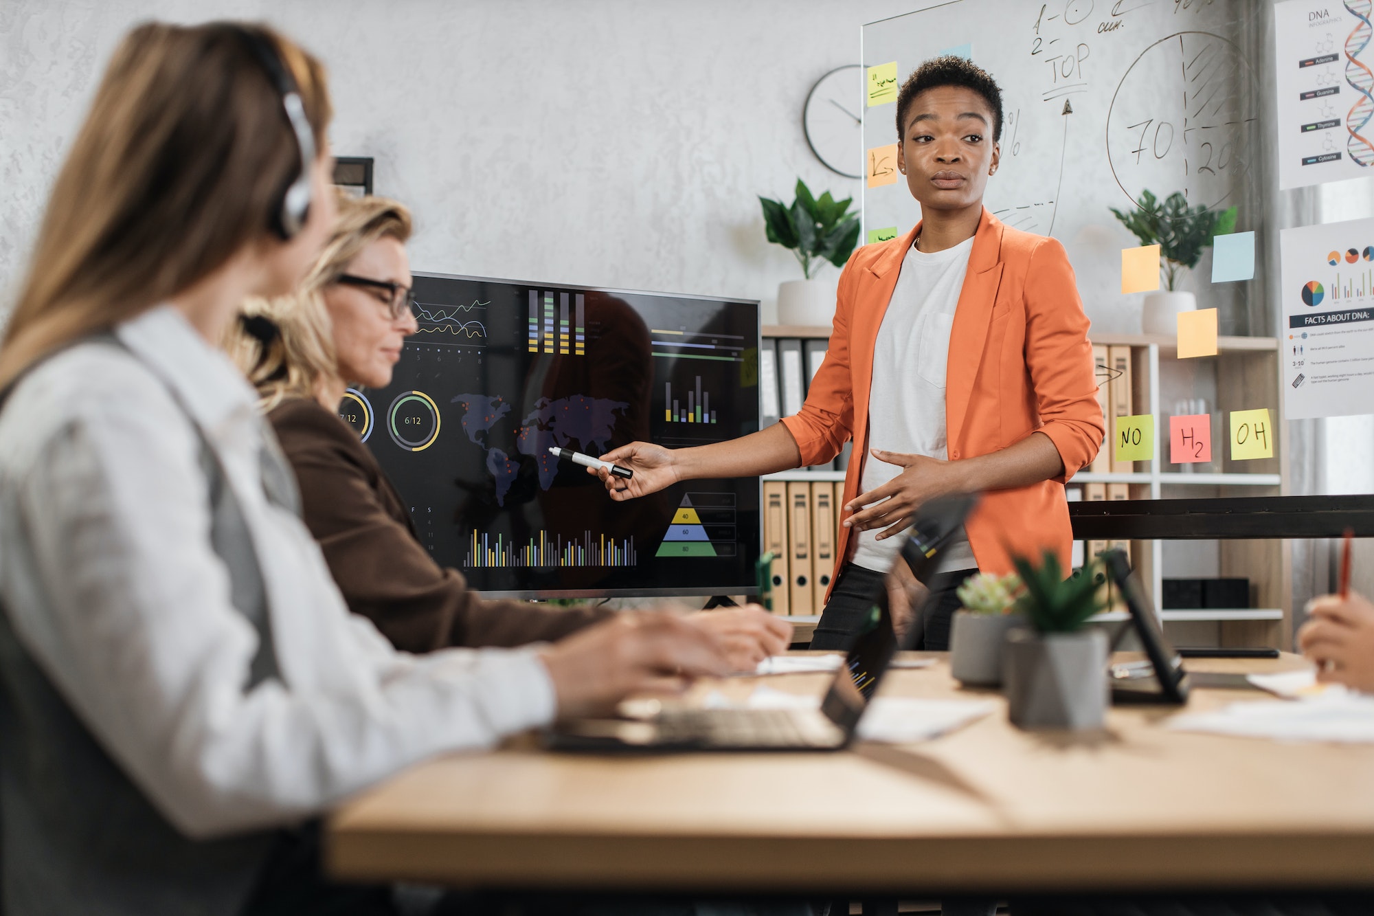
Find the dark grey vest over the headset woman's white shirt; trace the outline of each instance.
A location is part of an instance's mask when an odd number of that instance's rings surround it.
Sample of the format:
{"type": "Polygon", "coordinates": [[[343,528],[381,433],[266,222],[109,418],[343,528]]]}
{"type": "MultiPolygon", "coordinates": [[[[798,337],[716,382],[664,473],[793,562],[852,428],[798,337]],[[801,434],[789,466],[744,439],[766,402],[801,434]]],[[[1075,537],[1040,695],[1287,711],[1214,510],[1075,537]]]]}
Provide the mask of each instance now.
{"type": "MultiPolygon", "coordinates": [[[[120,347],[113,336],[99,340],[120,347]]],[[[228,567],[234,607],[260,637],[251,689],[278,677],[262,574],[224,468],[187,419],[210,483],[214,553],[228,567]]],[[[300,512],[295,479],[271,436],[262,481],[269,501],[300,512]]],[[[73,714],[0,608],[0,913],[228,916],[247,901],[275,838],[179,833],[73,714]]]]}

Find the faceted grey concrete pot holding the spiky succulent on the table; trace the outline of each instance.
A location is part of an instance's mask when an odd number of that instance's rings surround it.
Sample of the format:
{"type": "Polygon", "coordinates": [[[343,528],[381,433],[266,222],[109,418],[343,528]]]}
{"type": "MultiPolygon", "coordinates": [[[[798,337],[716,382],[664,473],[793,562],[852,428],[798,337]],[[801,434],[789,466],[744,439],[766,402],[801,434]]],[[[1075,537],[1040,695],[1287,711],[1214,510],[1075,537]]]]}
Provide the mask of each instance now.
{"type": "Polygon", "coordinates": [[[1107,637],[1101,630],[1013,630],[1002,684],[1011,723],[1022,729],[1099,729],[1107,714],[1107,637]]]}

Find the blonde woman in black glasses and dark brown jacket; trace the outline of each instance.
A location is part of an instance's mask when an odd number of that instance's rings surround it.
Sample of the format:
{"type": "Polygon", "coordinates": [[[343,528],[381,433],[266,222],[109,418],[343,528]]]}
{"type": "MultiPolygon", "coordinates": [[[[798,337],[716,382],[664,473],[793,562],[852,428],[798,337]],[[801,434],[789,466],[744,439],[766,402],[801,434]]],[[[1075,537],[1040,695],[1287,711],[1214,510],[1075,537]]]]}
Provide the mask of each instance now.
{"type": "MultiPolygon", "coordinates": [[[[349,608],[397,648],[515,646],[555,641],[614,612],[484,601],[430,557],[376,458],[338,417],[349,384],[383,388],[416,323],[405,242],[409,212],[379,197],[341,198],[324,252],[294,296],[257,300],[229,342],[262,396],[349,608]]],[[[787,648],[791,627],[761,608],[686,618],[710,630],[732,667],[787,648]]]]}

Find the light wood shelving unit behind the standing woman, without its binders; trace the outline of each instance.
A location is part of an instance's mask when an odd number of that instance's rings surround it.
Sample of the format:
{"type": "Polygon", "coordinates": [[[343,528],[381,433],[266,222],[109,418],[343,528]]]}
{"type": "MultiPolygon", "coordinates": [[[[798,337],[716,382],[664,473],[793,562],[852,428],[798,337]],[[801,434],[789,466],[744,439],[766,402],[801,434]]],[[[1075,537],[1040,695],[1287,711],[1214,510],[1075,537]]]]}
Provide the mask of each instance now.
{"type": "MultiPolygon", "coordinates": [[[[824,340],[827,326],[765,325],[765,338],[824,340]]],[[[1268,407],[1276,430],[1283,430],[1279,381],[1279,341],[1275,337],[1219,337],[1217,355],[1178,359],[1172,337],[1153,334],[1092,334],[1092,342],[1129,347],[1132,355],[1132,410],[1156,418],[1154,457],[1135,464],[1129,473],[1077,473],[1072,484],[1124,483],[1132,499],[1184,497],[1281,495],[1287,490],[1286,441],[1275,437],[1274,458],[1231,461],[1226,422],[1231,410],[1268,407]],[[1213,417],[1212,454],[1208,465],[1171,465],[1168,418],[1173,403],[1184,397],[1206,400],[1213,417]]],[[[838,470],[789,470],[765,480],[835,481],[838,470]]],[[[1158,608],[1167,576],[1243,576],[1250,580],[1248,608],[1160,611],[1171,640],[1179,645],[1268,645],[1283,648],[1292,640],[1292,567],[1287,541],[1132,541],[1132,561],[1158,608]],[[1172,546],[1171,546],[1172,545],[1172,546]]],[[[1124,619],[1121,612],[1101,615],[1103,623],[1124,619]]]]}

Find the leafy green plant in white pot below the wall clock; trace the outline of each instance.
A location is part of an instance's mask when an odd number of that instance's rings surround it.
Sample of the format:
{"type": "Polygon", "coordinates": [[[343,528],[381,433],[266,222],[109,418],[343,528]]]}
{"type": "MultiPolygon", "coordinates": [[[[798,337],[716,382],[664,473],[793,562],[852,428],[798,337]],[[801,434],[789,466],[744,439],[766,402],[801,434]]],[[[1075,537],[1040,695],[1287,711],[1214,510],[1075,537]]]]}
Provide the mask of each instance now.
{"type": "Polygon", "coordinates": [[[797,179],[797,199],[790,206],[760,197],[768,241],[790,249],[805,279],[778,286],[778,322],[782,325],[829,325],[835,314],[834,283],[812,276],[822,263],[844,267],[859,243],[859,213],[851,213],[853,198],[835,201],[826,191],[819,198],[797,179]]]}

